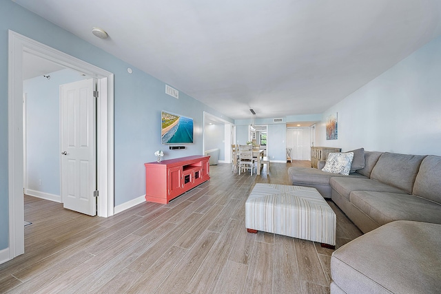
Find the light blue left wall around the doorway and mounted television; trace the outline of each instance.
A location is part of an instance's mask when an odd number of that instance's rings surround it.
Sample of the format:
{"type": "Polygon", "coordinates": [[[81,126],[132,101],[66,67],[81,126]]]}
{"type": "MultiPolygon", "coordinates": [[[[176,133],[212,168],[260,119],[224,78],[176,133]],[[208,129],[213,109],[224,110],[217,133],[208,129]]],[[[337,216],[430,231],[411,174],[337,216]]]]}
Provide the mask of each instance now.
{"type": "Polygon", "coordinates": [[[154,151],[163,149],[165,159],[203,154],[204,111],[233,122],[183,92],[179,93],[179,99],[168,96],[165,94],[164,82],[116,59],[12,1],[0,1],[0,250],[8,247],[9,226],[8,30],[114,73],[115,205],[145,194],[143,163],[155,160],[154,151]],[[133,74],[127,73],[127,67],[132,67],[133,74]],[[161,110],[194,118],[194,144],[176,151],[161,145],[161,110]]]}

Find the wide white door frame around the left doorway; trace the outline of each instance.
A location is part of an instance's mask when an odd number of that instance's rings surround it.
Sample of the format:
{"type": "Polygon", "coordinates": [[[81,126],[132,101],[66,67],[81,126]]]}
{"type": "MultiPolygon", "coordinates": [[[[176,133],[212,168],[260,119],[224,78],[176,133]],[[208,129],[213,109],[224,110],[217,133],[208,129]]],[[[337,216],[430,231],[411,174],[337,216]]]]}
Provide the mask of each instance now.
{"type": "Polygon", "coordinates": [[[114,74],[8,30],[8,196],[9,258],[24,253],[23,52],[98,79],[96,161],[98,216],[114,214],[114,74]]]}

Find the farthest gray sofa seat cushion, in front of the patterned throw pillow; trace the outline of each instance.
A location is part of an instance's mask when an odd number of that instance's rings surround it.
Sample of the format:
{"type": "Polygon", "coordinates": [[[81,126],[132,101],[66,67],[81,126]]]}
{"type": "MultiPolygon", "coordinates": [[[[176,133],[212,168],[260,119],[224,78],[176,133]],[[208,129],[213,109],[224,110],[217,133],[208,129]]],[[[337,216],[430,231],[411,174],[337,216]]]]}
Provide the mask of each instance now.
{"type": "Polygon", "coordinates": [[[365,176],[356,173],[349,174],[349,176],[331,174],[312,167],[289,167],[288,176],[291,178],[291,182],[302,182],[306,185],[329,185],[329,179],[331,177],[366,178],[365,176]]]}

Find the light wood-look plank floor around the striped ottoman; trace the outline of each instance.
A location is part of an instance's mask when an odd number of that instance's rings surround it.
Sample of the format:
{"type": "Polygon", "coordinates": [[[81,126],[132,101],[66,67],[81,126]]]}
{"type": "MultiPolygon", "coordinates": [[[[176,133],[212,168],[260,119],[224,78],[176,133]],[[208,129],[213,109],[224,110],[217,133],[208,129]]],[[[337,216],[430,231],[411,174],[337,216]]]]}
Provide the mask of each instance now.
{"type": "MultiPolygon", "coordinates": [[[[271,163],[260,176],[211,167],[212,179],[169,204],[111,218],[25,196],[25,254],[0,265],[0,293],[329,293],[331,249],[245,229],[256,182],[290,185],[271,163]]],[[[362,233],[337,214],[337,248],[362,233]]]]}

